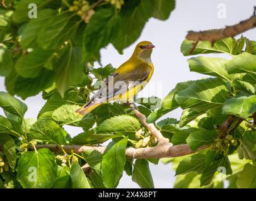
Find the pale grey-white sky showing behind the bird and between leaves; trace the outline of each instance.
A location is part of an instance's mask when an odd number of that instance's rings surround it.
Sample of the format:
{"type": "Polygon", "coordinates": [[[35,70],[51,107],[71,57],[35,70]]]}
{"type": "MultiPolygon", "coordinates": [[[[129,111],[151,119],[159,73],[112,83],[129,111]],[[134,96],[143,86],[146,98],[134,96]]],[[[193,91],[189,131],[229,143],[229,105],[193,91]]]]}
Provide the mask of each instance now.
{"type": "MultiPolygon", "coordinates": [[[[156,46],[151,57],[155,70],[151,82],[141,92],[143,94],[141,96],[156,95],[163,98],[178,82],[205,77],[199,73],[189,72],[188,57],[183,57],[180,53],[180,45],[187,31],[209,30],[236,24],[252,15],[253,6],[256,6],[255,0],[177,0],[175,10],[168,20],[149,19],[136,43],[148,40],[156,46]],[[218,18],[218,6],[223,4],[226,5],[226,18],[224,19],[218,18]]],[[[243,36],[247,36],[250,40],[256,40],[256,29],[243,33],[243,36]]],[[[113,67],[119,67],[131,57],[136,43],[126,48],[124,55],[119,55],[112,45],[108,45],[101,52],[102,64],[112,63],[113,67]]],[[[216,55],[204,56],[216,57],[216,55]]],[[[223,57],[223,55],[220,56],[223,57]]],[[[6,90],[3,77],[0,77],[0,90],[6,90]]],[[[41,95],[26,99],[25,103],[28,105],[28,111],[25,117],[36,118],[44,102],[45,100],[41,98],[41,95]]],[[[168,113],[165,117],[178,118],[180,112],[181,110],[177,109],[168,113]]],[[[3,111],[0,111],[0,114],[3,115],[3,111]]],[[[65,129],[72,136],[82,132],[82,129],[71,126],[66,126],[65,129]]],[[[156,188],[173,187],[175,172],[171,170],[170,164],[163,165],[160,163],[159,165],[150,165],[150,168],[156,188]]],[[[136,183],[132,182],[131,177],[125,174],[119,183],[119,188],[138,187],[136,183]]]]}

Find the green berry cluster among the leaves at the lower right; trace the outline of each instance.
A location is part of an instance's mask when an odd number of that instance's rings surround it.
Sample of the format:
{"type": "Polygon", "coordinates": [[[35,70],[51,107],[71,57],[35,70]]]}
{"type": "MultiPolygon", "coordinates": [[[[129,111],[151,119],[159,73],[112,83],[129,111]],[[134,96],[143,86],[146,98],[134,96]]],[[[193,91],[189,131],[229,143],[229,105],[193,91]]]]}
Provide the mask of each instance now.
{"type": "Polygon", "coordinates": [[[211,146],[217,152],[227,153],[230,146],[237,146],[237,144],[238,141],[228,134],[224,138],[215,139],[211,146]]]}

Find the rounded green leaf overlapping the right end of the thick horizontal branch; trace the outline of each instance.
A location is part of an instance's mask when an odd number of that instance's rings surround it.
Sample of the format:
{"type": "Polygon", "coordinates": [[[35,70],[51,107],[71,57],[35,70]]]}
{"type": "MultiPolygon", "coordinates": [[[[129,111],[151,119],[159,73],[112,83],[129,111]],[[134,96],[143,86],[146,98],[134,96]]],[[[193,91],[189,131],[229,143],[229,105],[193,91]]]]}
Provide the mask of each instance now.
{"type": "Polygon", "coordinates": [[[218,133],[216,131],[200,129],[190,133],[187,138],[187,143],[192,150],[201,148],[204,144],[209,144],[213,139],[217,137],[218,133]]]}

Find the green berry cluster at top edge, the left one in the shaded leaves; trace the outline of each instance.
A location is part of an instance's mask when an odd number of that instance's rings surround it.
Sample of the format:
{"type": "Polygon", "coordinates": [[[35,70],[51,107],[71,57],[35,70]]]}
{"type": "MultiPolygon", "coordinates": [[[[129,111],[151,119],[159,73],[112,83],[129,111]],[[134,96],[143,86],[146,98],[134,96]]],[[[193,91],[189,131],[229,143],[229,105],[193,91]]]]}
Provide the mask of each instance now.
{"type": "Polygon", "coordinates": [[[91,16],[95,13],[90,3],[84,0],[73,1],[73,6],[69,8],[69,11],[76,12],[85,23],[89,23],[91,16]]]}

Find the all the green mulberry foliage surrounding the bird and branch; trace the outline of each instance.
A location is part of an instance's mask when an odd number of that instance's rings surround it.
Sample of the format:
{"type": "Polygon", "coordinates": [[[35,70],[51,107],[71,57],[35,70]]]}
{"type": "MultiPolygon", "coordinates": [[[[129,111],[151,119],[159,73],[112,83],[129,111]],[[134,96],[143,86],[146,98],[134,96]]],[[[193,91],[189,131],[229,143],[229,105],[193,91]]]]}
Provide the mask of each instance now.
{"type": "MultiPolygon", "coordinates": [[[[157,165],[158,159],[125,156],[128,147],[158,143],[131,109],[112,103],[83,117],[74,111],[90,98],[97,81],[115,70],[110,64],[93,67],[100,63],[100,50],[111,43],[122,53],[149,18],[168,19],[175,2],[34,0],[37,18],[28,17],[35,16],[30,3],[6,0],[0,9],[0,75],[8,90],[0,92],[0,188],[115,188],[124,171],[139,187],[153,188],[149,163],[157,165]],[[30,106],[13,95],[26,99],[40,92],[44,106],[37,119],[26,118],[30,106]],[[66,125],[83,133],[71,138],[66,125]],[[61,148],[106,141],[103,153],[61,148]],[[52,151],[49,144],[59,149],[52,151]]],[[[192,46],[193,41],[183,41],[185,57],[192,46]]],[[[199,41],[192,55],[190,70],[206,78],[178,83],[157,101],[160,105],[151,107],[156,97],[145,97],[138,106],[170,143],[197,151],[162,160],[173,163],[174,187],[223,188],[226,179],[230,188],[255,188],[256,42],[243,37],[213,46],[199,41]],[[214,57],[220,53],[231,57],[214,57]],[[183,111],[179,119],[165,118],[177,108],[183,111]]]]}

